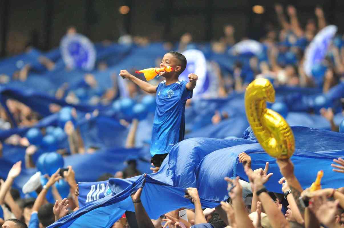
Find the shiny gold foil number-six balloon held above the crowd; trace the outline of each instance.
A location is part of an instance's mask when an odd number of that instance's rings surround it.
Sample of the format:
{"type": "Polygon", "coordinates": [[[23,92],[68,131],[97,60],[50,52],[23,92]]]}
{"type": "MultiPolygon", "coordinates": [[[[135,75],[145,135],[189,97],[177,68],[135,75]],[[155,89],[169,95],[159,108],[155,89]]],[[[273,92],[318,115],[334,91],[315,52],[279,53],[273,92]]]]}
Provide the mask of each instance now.
{"type": "Polygon", "coordinates": [[[288,159],[295,150],[295,140],[287,121],[266,108],[266,101],[275,102],[275,89],[268,79],[251,82],[245,93],[246,116],[261,147],[272,157],[288,159]]]}

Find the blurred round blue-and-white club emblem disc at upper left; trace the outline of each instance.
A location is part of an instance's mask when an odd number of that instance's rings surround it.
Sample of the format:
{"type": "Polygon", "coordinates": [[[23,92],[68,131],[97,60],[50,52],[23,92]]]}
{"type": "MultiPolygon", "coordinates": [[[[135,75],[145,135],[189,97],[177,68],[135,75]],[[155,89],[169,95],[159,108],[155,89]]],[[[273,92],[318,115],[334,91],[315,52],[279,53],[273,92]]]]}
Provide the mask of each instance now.
{"type": "Polygon", "coordinates": [[[96,63],[96,49],[84,35],[65,35],[61,40],[61,54],[65,64],[71,68],[92,70],[96,63]]]}

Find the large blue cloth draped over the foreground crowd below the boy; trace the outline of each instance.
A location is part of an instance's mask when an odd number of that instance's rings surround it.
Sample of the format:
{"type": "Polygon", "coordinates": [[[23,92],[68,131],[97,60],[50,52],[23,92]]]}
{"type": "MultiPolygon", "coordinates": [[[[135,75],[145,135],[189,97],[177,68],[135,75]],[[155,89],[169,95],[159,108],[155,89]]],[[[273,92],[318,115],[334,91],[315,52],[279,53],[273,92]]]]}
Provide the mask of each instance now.
{"type": "MultiPolygon", "coordinates": [[[[294,173],[303,188],[309,187],[319,170],[324,171],[322,187],[341,187],[342,175],[332,171],[334,158],[344,157],[341,133],[305,127],[292,127],[295,136],[295,152],[291,157],[294,173]],[[310,169],[311,167],[311,169],[310,169]]],[[[245,136],[252,132],[248,129],[245,136]]],[[[252,169],[270,163],[269,172],[274,173],[266,183],[269,191],[280,192],[279,173],[276,160],[262,150],[255,137],[248,139],[192,138],[176,144],[166,157],[160,171],[147,174],[141,200],[148,215],[156,219],[160,215],[181,207],[193,208],[184,196],[185,188],[196,187],[203,207],[215,207],[228,198],[225,176],[239,176],[247,180],[243,166],[238,163],[238,154],[248,153],[252,158],[252,169]],[[159,195],[159,197],[157,197],[159,195]],[[159,206],[158,206],[159,205],[159,206]]],[[[144,176],[128,179],[109,179],[114,196],[96,200],[78,211],[65,216],[49,227],[92,227],[113,224],[125,210],[134,211],[130,194],[143,185],[144,176]],[[101,219],[97,219],[100,216],[101,219]],[[92,219],[93,218],[93,219],[92,219]],[[104,219],[104,220],[103,220],[104,219]],[[90,222],[93,221],[93,222],[90,222]],[[101,222],[98,222],[101,221],[101,222]]]]}

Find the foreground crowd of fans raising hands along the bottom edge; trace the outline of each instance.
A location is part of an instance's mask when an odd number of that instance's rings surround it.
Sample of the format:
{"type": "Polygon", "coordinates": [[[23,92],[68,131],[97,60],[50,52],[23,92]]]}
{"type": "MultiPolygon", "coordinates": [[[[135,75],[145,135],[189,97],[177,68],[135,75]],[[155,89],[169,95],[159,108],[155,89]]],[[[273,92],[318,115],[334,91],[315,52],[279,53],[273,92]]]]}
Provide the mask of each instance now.
{"type": "MultiPolygon", "coordinates": [[[[260,169],[251,169],[251,157],[245,152],[238,156],[243,164],[246,175],[250,181],[247,185],[239,181],[239,177],[228,182],[228,200],[221,202],[216,208],[203,209],[196,188],[185,189],[186,198],[190,199],[195,208],[187,209],[187,217],[181,218],[180,208],[161,215],[158,220],[150,219],[141,203],[142,188],[131,195],[135,206],[135,217],[124,217],[115,222],[113,228],[139,227],[344,227],[344,187],[334,189],[325,188],[310,191],[302,189],[298,178],[294,175],[294,165],[290,159],[277,159],[280,172],[283,175],[276,184],[281,184],[284,193],[269,192],[264,184],[273,175],[269,173],[269,163],[260,169]],[[136,218],[136,219],[135,219],[136,218]]],[[[331,165],[334,172],[344,174],[344,160],[334,159],[331,165]]],[[[2,228],[47,227],[63,216],[78,210],[78,185],[75,173],[71,166],[64,171],[63,177],[57,170],[44,186],[35,191],[37,198],[21,199],[17,191],[11,189],[14,178],[21,172],[21,162],[17,162],[10,170],[6,181],[1,180],[0,205],[4,212],[4,219],[0,219],[2,228]],[[62,199],[55,182],[62,178],[70,186],[68,198],[62,199]],[[47,203],[46,194],[52,188],[55,204],[47,203]],[[10,191],[11,189],[11,191],[10,191]]]]}

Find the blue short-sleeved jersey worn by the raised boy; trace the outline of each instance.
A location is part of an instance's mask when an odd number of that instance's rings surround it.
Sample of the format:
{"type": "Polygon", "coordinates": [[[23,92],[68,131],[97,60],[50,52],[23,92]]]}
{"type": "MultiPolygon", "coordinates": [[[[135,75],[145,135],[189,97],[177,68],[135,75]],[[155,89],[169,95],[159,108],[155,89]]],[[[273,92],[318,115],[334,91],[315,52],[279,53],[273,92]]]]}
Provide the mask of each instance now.
{"type": "Polygon", "coordinates": [[[157,109],[155,110],[150,152],[169,153],[172,146],[184,139],[185,102],[192,98],[192,91],[186,89],[187,82],[179,80],[166,86],[162,81],[157,87],[157,109]]]}

